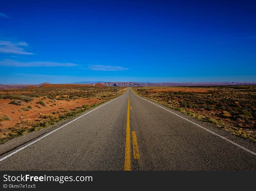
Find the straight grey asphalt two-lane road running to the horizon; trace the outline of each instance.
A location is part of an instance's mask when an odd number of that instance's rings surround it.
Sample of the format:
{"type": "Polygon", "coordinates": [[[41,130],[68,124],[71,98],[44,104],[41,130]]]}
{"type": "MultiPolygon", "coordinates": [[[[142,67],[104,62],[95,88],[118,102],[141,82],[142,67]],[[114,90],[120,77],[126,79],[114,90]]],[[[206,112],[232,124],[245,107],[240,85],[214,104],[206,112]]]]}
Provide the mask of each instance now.
{"type": "Polygon", "coordinates": [[[2,154],[0,170],[255,170],[255,144],[247,142],[129,88],[40,140],[2,154]]]}

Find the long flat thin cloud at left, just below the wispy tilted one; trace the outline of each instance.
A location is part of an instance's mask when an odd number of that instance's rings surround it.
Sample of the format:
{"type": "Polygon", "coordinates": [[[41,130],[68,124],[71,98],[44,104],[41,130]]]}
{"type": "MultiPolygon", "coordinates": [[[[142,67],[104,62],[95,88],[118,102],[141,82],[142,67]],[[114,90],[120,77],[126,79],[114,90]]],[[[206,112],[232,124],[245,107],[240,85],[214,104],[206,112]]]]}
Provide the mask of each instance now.
{"type": "Polygon", "coordinates": [[[3,59],[0,61],[0,66],[12,66],[12,67],[54,67],[54,66],[63,66],[63,67],[74,67],[78,66],[73,63],[58,63],[58,62],[20,62],[17,60],[3,59]]]}

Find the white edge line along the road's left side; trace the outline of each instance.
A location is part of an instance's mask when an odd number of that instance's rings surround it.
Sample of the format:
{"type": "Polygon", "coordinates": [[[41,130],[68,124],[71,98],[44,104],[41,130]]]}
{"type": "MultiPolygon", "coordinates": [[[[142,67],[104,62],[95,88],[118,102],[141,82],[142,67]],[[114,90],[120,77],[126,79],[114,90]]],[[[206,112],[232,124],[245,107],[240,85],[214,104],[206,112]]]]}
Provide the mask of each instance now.
{"type": "MultiPolygon", "coordinates": [[[[127,91],[127,92],[128,92],[128,91],[127,91]]],[[[127,92],[125,92],[124,94],[126,94],[127,92]]],[[[124,94],[120,95],[120,96],[117,97],[117,98],[120,98],[120,97],[123,96],[124,94]]],[[[117,98],[115,98],[115,99],[117,99],[117,98]]],[[[114,101],[115,99],[112,99],[111,101],[114,101]]],[[[55,131],[58,131],[59,129],[65,127],[66,125],[68,125],[68,124],[70,124],[70,123],[76,121],[77,119],[79,119],[79,118],[81,118],[81,117],[87,115],[88,113],[91,113],[92,111],[94,111],[94,110],[96,110],[96,109],[98,109],[98,108],[100,108],[100,107],[102,107],[102,106],[104,106],[104,105],[110,103],[111,101],[109,101],[109,102],[107,102],[107,103],[104,103],[103,105],[101,105],[101,106],[99,106],[99,107],[97,107],[97,108],[95,108],[95,109],[93,109],[93,110],[91,110],[91,111],[89,111],[89,112],[87,112],[87,113],[81,115],[80,117],[77,117],[76,119],[73,119],[72,121],[66,123],[65,125],[63,125],[63,126],[61,126],[61,127],[59,127],[59,128],[56,128],[55,130],[51,131],[50,133],[47,133],[46,135],[44,135],[44,136],[38,138],[37,140],[34,140],[33,142],[31,142],[31,143],[25,145],[24,147],[21,147],[21,148],[19,148],[18,150],[14,151],[14,152],[12,152],[12,153],[10,153],[10,154],[8,154],[8,155],[6,155],[5,157],[3,157],[3,158],[0,159],[0,162],[3,161],[3,160],[5,160],[5,159],[8,158],[8,157],[14,155],[14,154],[17,153],[17,152],[22,151],[23,149],[26,149],[26,148],[29,147],[30,145],[32,145],[32,144],[34,144],[34,143],[40,141],[41,139],[45,138],[45,137],[48,136],[48,135],[51,135],[51,133],[54,133],[55,131]]]]}

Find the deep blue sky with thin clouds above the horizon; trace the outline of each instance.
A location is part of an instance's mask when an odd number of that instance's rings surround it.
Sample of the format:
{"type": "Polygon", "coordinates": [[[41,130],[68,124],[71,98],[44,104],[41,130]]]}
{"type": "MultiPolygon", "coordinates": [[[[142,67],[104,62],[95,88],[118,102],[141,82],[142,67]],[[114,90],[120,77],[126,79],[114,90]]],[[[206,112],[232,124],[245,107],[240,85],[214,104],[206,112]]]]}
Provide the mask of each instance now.
{"type": "Polygon", "coordinates": [[[0,5],[0,84],[256,81],[256,1],[0,5]]]}

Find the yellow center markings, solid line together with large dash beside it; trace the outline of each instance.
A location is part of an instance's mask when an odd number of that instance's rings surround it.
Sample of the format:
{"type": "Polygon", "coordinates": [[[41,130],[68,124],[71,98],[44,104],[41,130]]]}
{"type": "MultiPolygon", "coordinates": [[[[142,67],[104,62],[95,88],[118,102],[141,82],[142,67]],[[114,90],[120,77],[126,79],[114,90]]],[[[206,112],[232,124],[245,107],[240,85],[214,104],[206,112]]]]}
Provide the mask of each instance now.
{"type": "MultiPolygon", "coordinates": [[[[132,146],[133,146],[133,158],[139,159],[139,150],[136,139],[135,131],[131,132],[132,146]]],[[[126,119],[126,141],[125,141],[125,168],[124,170],[131,170],[131,145],[130,145],[130,98],[128,97],[127,107],[127,119],[126,119]]]]}

